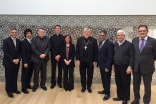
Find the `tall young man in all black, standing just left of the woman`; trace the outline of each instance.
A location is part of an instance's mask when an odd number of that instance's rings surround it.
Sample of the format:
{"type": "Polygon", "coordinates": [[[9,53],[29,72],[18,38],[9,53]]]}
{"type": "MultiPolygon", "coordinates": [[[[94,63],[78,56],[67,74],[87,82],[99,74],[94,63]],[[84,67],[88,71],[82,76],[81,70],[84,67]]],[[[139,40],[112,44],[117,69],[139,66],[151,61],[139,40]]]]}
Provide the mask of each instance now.
{"type": "Polygon", "coordinates": [[[61,26],[55,26],[55,34],[50,37],[50,45],[51,45],[51,86],[53,89],[56,86],[56,65],[58,64],[58,79],[57,84],[60,88],[62,88],[62,65],[61,65],[61,47],[64,43],[64,36],[60,34],[61,26]]]}

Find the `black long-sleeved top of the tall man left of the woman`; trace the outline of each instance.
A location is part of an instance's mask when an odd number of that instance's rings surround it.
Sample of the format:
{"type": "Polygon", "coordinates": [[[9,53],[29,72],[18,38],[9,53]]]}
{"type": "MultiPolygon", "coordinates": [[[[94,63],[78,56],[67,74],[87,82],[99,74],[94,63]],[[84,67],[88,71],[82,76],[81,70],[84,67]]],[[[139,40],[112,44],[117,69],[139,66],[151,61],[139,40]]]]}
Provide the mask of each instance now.
{"type": "Polygon", "coordinates": [[[59,36],[57,36],[56,34],[54,34],[53,36],[50,37],[51,57],[55,58],[57,55],[61,54],[62,44],[64,44],[64,36],[63,35],[60,34],[59,36]]]}

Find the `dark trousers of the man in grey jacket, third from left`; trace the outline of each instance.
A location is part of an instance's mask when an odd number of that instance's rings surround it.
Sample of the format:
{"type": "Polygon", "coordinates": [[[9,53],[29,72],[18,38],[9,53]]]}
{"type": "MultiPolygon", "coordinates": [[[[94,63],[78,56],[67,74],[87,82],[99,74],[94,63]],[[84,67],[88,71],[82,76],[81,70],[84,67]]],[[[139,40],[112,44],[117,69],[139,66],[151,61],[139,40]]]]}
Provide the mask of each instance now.
{"type": "Polygon", "coordinates": [[[40,59],[38,64],[34,64],[34,87],[39,86],[39,72],[41,70],[41,82],[40,86],[45,86],[46,74],[47,74],[47,62],[45,59],[40,59]]]}

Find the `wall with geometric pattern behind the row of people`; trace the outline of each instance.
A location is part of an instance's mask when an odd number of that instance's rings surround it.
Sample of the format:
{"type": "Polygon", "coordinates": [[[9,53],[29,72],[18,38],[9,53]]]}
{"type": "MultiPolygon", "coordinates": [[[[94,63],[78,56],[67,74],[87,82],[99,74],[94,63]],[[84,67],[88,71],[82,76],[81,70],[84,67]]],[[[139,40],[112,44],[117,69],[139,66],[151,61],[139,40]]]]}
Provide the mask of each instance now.
{"type": "MultiPolygon", "coordinates": [[[[5,81],[4,67],[2,66],[2,41],[9,36],[10,28],[15,27],[18,30],[18,38],[24,39],[23,31],[26,28],[33,30],[33,36],[37,35],[39,28],[46,30],[47,36],[54,34],[54,26],[62,26],[62,34],[72,36],[73,43],[76,44],[77,38],[82,35],[85,27],[90,28],[92,36],[99,40],[99,31],[105,29],[108,32],[108,38],[116,41],[116,31],[123,29],[126,32],[126,39],[131,41],[137,36],[138,25],[145,24],[149,27],[151,36],[156,29],[156,16],[31,16],[31,15],[0,15],[0,81],[5,81]]],[[[156,34],[155,34],[156,35],[156,34]]],[[[50,82],[51,62],[48,62],[47,82],[50,82]]],[[[78,67],[75,67],[75,82],[80,82],[78,67]]],[[[19,78],[21,80],[21,71],[19,78]]],[[[93,83],[101,83],[99,69],[95,67],[93,83]]],[[[112,83],[114,81],[114,73],[112,72],[112,83]]],[[[156,84],[156,73],[154,73],[152,84],[156,84]]]]}

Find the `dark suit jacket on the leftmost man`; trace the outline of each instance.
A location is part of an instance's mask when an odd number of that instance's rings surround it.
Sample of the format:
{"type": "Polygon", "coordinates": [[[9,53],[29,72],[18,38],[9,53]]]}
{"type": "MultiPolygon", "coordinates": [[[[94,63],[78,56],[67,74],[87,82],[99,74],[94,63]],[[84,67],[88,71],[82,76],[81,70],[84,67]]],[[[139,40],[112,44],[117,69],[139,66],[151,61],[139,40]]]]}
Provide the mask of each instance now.
{"type": "Polygon", "coordinates": [[[21,42],[16,39],[16,48],[11,37],[3,40],[3,65],[12,67],[14,59],[21,59],[21,42]]]}

